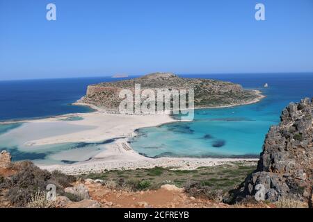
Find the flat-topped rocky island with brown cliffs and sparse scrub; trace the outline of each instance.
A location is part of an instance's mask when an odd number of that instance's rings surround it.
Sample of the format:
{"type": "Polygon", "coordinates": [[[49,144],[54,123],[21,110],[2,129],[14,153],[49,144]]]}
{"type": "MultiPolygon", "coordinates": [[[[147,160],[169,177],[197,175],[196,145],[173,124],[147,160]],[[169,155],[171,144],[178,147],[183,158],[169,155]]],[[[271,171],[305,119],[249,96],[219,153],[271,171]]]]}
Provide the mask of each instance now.
{"type": "Polygon", "coordinates": [[[77,104],[93,105],[108,112],[118,112],[122,89],[134,91],[135,84],[143,89],[194,89],[195,108],[213,108],[255,103],[264,96],[257,90],[241,85],[204,78],[182,78],[170,73],[154,73],[130,80],[89,85],[87,94],[77,104]]]}

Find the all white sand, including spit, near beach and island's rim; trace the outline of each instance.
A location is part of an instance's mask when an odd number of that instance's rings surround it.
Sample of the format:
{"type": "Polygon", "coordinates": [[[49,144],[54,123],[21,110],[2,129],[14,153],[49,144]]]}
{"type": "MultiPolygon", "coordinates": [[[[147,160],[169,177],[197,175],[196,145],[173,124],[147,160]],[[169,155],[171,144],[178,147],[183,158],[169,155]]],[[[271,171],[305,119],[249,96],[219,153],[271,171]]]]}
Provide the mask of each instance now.
{"type": "MultiPolygon", "coordinates": [[[[235,105],[248,105],[257,103],[265,96],[260,91],[255,90],[259,94],[257,99],[248,101],[243,104],[234,104],[220,106],[216,108],[227,108],[235,105]]],[[[160,157],[150,158],[145,157],[136,151],[127,143],[127,138],[136,135],[136,129],[161,126],[166,123],[179,121],[170,117],[170,114],[142,114],[142,115],[127,115],[127,114],[112,114],[106,112],[95,105],[86,103],[73,103],[73,105],[88,105],[96,110],[95,112],[64,114],[56,117],[45,119],[31,119],[23,121],[8,121],[3,123],[26,123],[24,133],[32,132],[33,124],[47,124],[46,129],[54,131],[54,127],[62,122],[68,125],[78,127],[91,127],[89,129],[79,130],[74,133],[65,133],[61,135],[52,135],[28,141],[26,146],[40,146],[49,144],[63,144],[74,142],[101,142],[106,139],[118,138],[115,142],[107,144],[104,151],[93,156],[90,160],[77,162],[72,164],[38,164],[38,167],[49,171],[59,170],[68,174],[81,174],[90,172],[101,172],[110,169],[136,169],[136,168],[152,168],[152,167],[171,167],[175,169],[196,169],[198,167],[210,167],[219,164],[231,164],[232,162],[255,162],[255,158],[236,158],[236,157],[160,157]],[[82,120],[64,121],[68,117],[81,117],[82,120]],[[49,124],[49,125],[48,125],[49,124]]],[[[212,107],[210,107],[212,108],[212,107]]],[[[205,109],[205,108],[196,108],[205,109]]],[[[23,133],[22,132],[22,133],[23,133]]],[[[21,133],[21,132],[19,132],[21,133]]],[[[35,133],[35,132],[33,132],[35,133]]]]}

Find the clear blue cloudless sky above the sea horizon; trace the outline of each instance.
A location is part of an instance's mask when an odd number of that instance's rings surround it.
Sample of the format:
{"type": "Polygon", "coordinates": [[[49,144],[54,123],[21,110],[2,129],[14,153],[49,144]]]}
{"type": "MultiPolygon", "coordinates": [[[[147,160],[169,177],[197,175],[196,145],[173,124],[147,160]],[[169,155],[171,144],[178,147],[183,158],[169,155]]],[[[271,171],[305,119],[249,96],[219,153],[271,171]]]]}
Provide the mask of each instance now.
{"type": "Polygon", "coordinates": [[[313,0],[0,0],[0,80],[154,71],[313,71],[313,0]]]}

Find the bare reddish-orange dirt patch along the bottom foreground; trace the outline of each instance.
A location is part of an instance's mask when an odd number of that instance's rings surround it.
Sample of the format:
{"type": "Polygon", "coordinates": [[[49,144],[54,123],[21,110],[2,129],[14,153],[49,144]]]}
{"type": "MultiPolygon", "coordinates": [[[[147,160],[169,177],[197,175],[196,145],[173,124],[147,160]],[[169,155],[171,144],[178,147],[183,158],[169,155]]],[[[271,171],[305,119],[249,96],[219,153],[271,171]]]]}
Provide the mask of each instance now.
{"type": "Polygon", "coordinates": [[[106,189],[101,184],[85,182],[90,196],[97,200],[102,207],[135,207],[135,208],[229,208],[229,207],[273,207],[260,203],[258,205],[227,205],[216,203],[205,198],[194,198],[173,185],[166,185],[157,190],[120,191],[106,189]]]}

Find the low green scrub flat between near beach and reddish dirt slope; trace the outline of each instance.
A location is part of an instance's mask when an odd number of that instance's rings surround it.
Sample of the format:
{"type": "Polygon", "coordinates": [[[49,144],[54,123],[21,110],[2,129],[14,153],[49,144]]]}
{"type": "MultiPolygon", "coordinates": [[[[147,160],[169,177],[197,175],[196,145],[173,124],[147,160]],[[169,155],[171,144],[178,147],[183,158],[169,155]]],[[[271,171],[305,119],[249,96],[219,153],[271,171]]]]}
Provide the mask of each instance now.
{"type": "Polygon", "coordinates": [[[237,187],[254,170],[255,164],[247,165],[239,162],[216,167],[199,167],[195,170],[163,167],[112,170],[90,173],[83,175],[83,178],[104,180],[104,185],[109,189],[129,189],[131,191],[158,189],[162,185],[172,184],[184,187],[191,196],[206,196],[221,200],[221,196],[237,187]]]}

